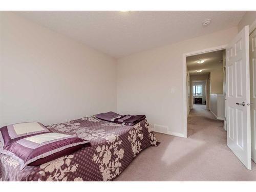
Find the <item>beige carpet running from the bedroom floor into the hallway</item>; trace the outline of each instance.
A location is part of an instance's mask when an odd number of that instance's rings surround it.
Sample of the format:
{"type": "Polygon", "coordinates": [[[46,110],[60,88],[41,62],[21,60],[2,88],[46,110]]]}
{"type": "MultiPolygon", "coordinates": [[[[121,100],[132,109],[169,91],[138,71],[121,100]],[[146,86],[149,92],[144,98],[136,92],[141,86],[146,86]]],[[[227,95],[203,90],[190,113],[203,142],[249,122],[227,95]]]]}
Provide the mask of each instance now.
{"type": "Polygon", "coordinates": [[[247,170],[226,145],[223,121],[195,105],[188,117],[188,138],[155,133],[149,147],[115,181],[256,181],[256,165],[247,170]]]}

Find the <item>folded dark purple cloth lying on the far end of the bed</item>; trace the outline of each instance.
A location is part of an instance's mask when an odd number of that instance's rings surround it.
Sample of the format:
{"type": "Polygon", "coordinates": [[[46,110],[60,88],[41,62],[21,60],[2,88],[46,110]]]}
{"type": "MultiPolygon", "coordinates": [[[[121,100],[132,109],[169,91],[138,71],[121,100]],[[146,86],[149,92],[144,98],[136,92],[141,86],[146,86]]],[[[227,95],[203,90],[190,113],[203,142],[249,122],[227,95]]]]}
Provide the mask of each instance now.
{"type": "Polygon", "coordinates": [[[112,111],[108,113],[97,114],[96,117],[98,119],[119,123],[123,125],[135,125],[136,123],[146,118],[145,115],[119,115],[112,111]]]}

